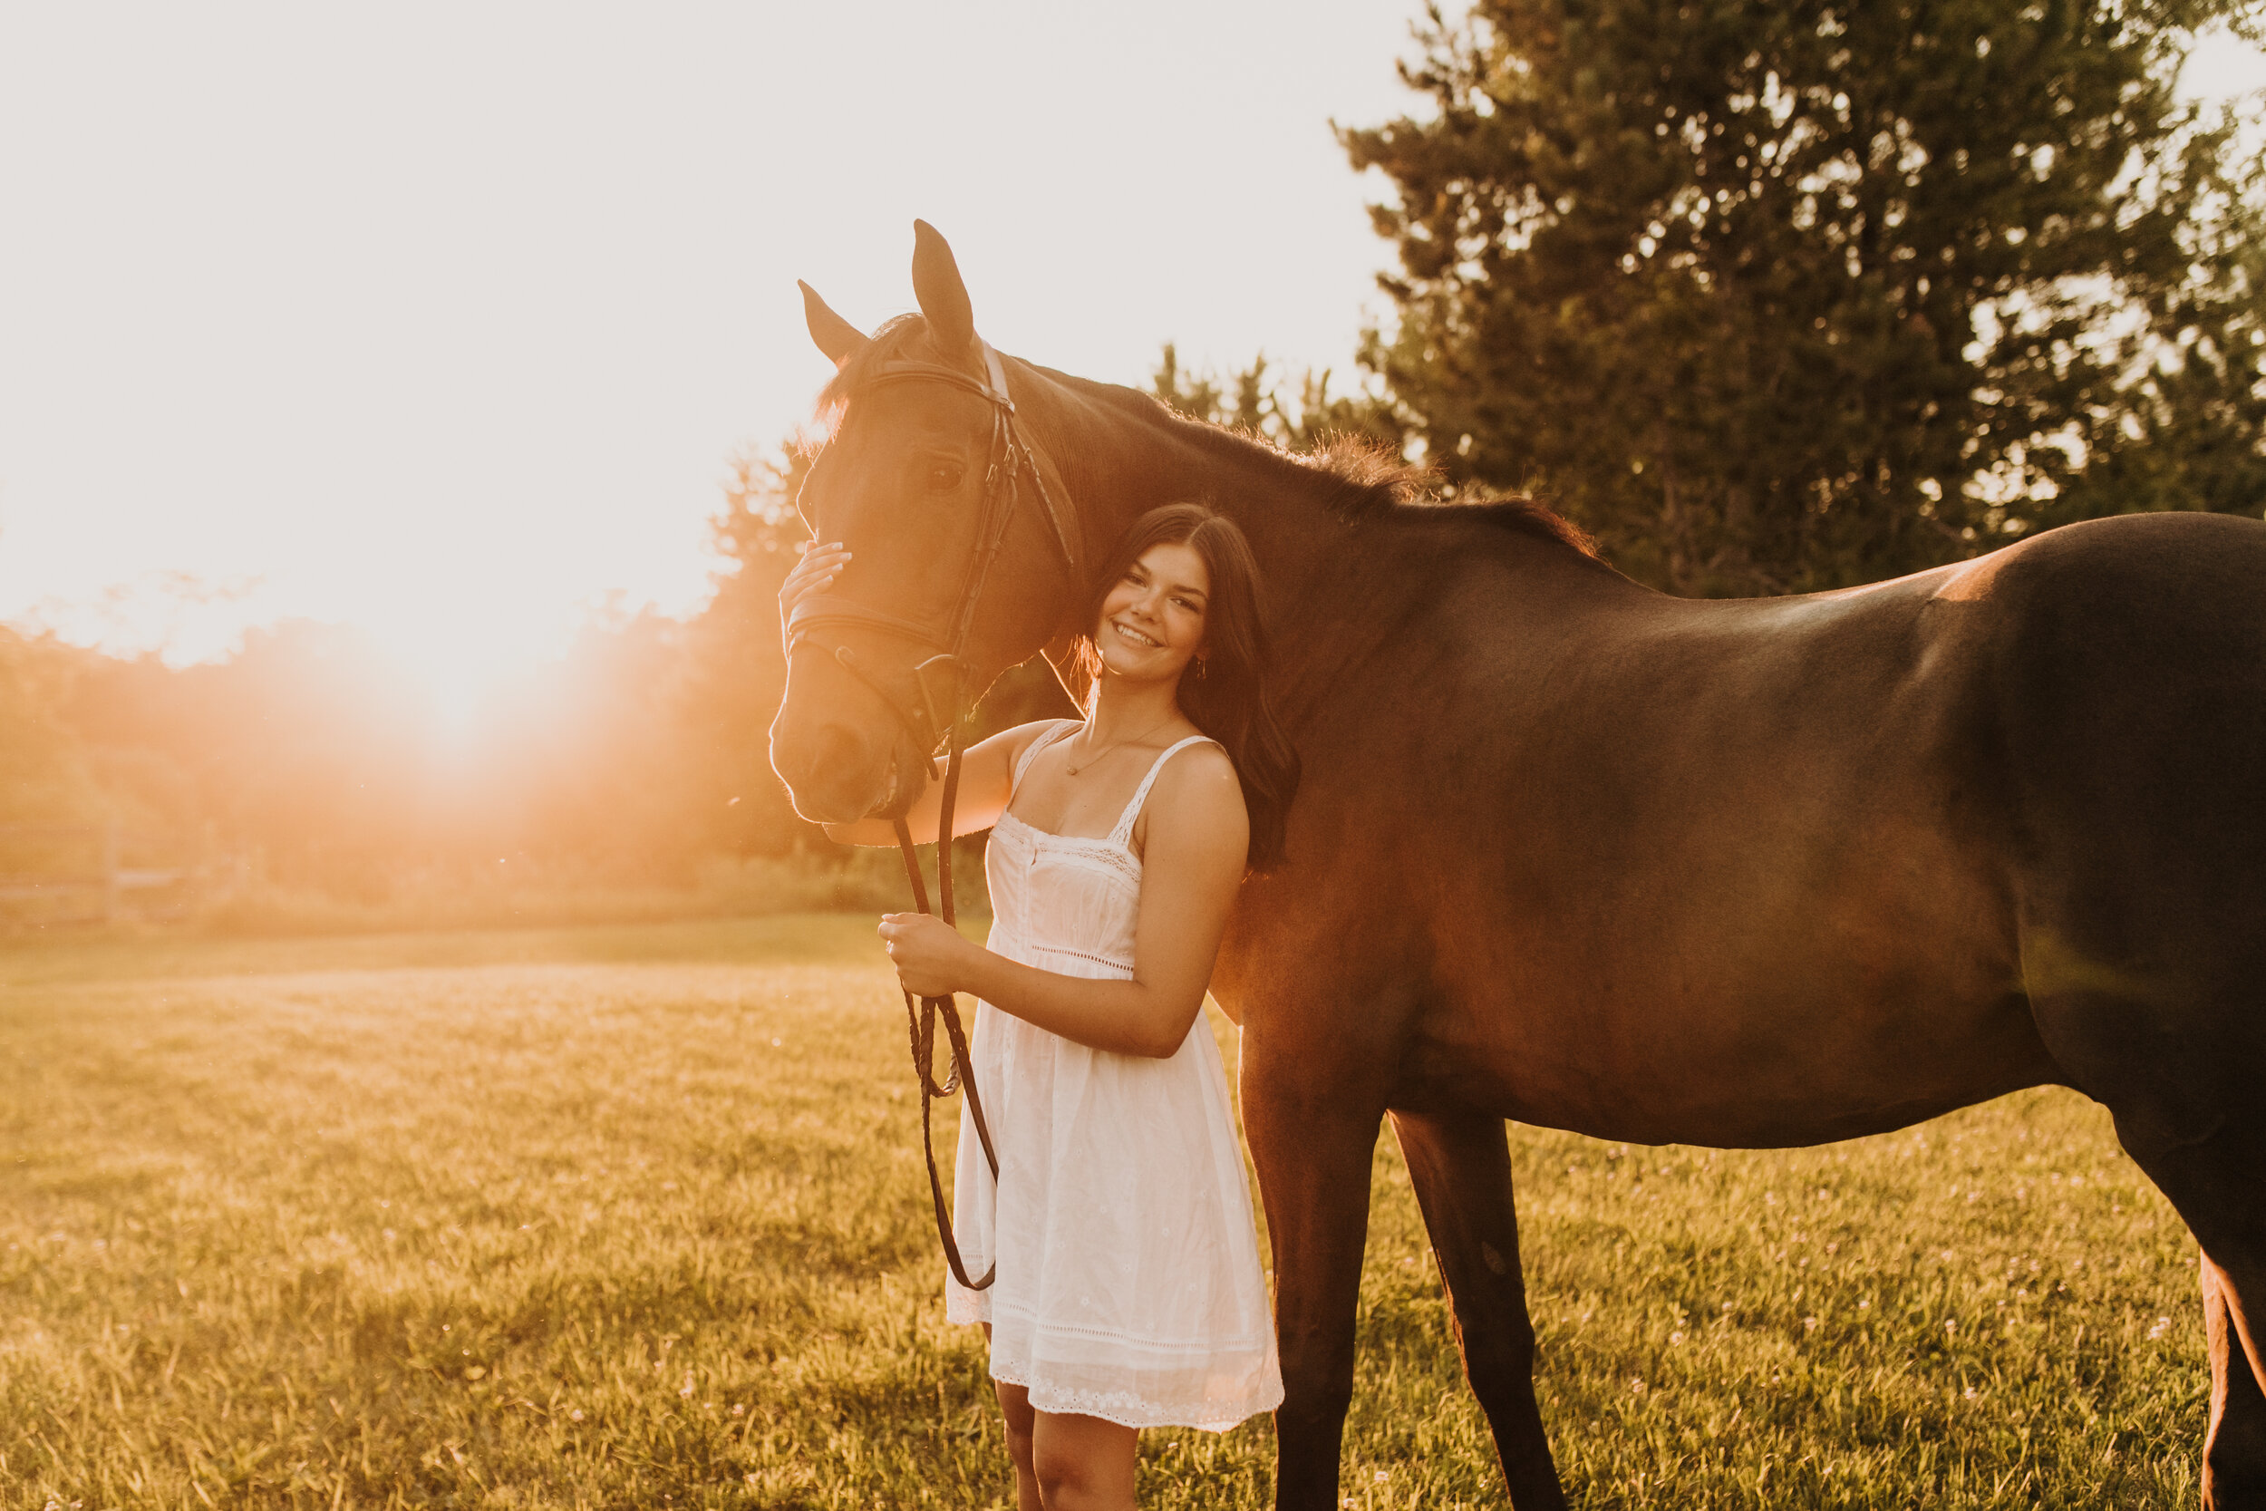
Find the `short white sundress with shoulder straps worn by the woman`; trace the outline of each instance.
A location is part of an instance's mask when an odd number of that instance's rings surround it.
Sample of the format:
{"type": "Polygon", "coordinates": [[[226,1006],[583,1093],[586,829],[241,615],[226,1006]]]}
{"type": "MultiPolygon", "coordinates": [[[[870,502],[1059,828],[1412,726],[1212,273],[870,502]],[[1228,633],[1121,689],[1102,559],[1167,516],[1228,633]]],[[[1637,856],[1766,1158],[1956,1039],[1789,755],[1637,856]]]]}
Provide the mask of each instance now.
{"type": "MultiPolygon", "coordinates": [[[[1079,727],[1031,741],[1031,759],[1079,727]]],[[[983,856],[990,947],[1065,976],[1131,979],[1140,913],[1133,820],[1165,750],[1108,838],[1047,834],[1002,813],[983,856]]],[[[1013,786],[1008,800],[1013,802],[1013,786]]],[[[970,1291],[945,1275],[945,1316],[990,1323],[993,1380],[1031,1407],[1124,1427],[1224,1432],[1283,1402],[1228,1078],[1196,1015],[1169,1058],[1088,1049],[988,1001],[970,1040],[999,1153],[983,1164],[968,1108],[954,1167],[954,1228],[970,1291]]]]}

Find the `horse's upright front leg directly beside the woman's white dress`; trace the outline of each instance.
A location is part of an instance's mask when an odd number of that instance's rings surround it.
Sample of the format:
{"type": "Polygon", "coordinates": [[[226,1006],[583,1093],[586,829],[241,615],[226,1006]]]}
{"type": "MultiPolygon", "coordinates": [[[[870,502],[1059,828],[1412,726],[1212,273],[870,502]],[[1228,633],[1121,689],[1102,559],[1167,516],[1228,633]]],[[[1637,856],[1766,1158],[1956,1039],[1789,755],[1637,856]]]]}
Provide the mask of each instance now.
{"type": "Polygon", "coordinates": [[[1244,1033],[1242,1101],[1273,1244],[1276,1509],[1335,1511],[1353,1402],[1353,1314],[1369,1239],[1369,1160],[1385,1115],[1366,1076],[1332,1074],[1314,1042],[1244,1033]],[[1269,1053],[1278,1049],[1278,1053],[1269,1053]]]}

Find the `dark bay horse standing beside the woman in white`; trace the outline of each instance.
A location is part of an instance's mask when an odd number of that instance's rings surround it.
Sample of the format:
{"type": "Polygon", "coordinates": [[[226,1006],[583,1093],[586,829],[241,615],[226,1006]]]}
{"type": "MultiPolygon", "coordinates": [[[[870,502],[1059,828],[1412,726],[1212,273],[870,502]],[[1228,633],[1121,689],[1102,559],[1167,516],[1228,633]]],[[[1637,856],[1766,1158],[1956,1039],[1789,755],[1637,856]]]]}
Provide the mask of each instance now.
{"type": "Polygon", "coordinates": [[[902,813],[940,734],[902,714],[934,698],[920,625],[956,591],[981,686],[1085,630],[1083,564],[1144,510],[1242,523],[1305,761],[1212,981],[1273,1239],[1278,1506],[1337,1504],[1380,1119],[1539,1511],[1564,1491],[1505,1119],[1779,1149],[2030,1085],[2105,1103],[2200,1241],[2203,1497],[2266,1506],[2266,523],[2119,517],[1679,600],[1539,505],[1428,505],[1380,460],[999,362],[925,224],[913,290],[868,338],[804,285],[836,426],[800,503],[857,566],[791,655],[773,766],[804,818],[902,813]],[[986,575],[988,372],[1031,476],[986,575]]]}

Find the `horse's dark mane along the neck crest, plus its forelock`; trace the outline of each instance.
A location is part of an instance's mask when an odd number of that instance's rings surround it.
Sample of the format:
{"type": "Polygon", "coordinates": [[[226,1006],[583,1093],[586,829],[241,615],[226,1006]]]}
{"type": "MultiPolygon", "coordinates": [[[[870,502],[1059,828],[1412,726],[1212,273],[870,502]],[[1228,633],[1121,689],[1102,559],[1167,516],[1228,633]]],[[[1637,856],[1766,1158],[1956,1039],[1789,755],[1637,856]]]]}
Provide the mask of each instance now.
{"type": "MultiPolygon", "coordinates": [[[[934,351],[913,353],[913,344],[927,342],[927,338],[929,322],[920,315],[897,315],[884,322],[881,328],[872,333],[872,340],[843,362],[827,385],[818,390],[818,439],[834,435],[836,426],[841,426],[843,412],[850,408],[850,396],[857,394],[857,390],[861,390],[884,365],[900,360],[936,360],[934,351]]],[[[1598,544],[1591,535],[1539,498],[1527,494],[1484,498],[1457,494],[1453,498],[1443,498],[1437,487],[1439,478],[1432,469],[1416,467],[1371,439],[1335,435],[1323,439],[1312,451],[1289,451],[1276,442],[1260,439],[1242,430],[1228,430],[1224,426],[1178,415],[1153,394],[1144,394],[1135,387],[1074,378],[1070,374],[1054,372],[1051,367],[1040,367],[1038,372],[1085,394],[1088,399],[1099,399],[1142,424],[1165,419],[1181,439],[1187,439],[1194,446],[1212,451],[1226,460],[1249,462],[1253,458],[1267,458],[1271,464],[1289,469],[1287,476],[1296,476],[1305,489],[1321,483],[1321,505],[1346,521],[1439,519],[1441,514],[1459,514],[1464,519],[1480,519],[1502,530],[1518,530],[1523,535],[1557,541],[1559,546],[1577,550],[1591,560],[1598,557],[1598,544]]]]}

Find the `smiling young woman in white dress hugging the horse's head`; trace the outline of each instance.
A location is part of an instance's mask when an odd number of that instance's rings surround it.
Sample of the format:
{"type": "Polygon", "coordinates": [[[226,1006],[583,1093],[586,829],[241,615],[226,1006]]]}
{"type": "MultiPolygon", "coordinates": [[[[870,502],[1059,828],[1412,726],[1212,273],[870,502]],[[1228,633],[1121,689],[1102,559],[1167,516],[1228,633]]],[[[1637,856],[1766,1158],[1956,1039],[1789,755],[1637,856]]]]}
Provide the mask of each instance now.
{"type": "MultiPolygon", "coordinates": [[[[813,546],[793,605],[847,566],[813,546]]],[[[1203,992],[1235,888],[1283,854],[1298,759],[1267,702],[1251,546],[1192,503],[1133,521],[1088,614],[1085,718],[963,757],[954,827],[993,829],[990,947],[891,913],[915,994],[970,992],[997,1185],[961,1110],[954,1226],[1022,1511],[1133,1504],[1142,1427],[1224,1432],[1283,1400],[1242,1149],[1203,992]]],[[[913,809],[936,829],[938,791],[913,809]]],[[[838,840],[893,843],[881,820],[838,840]]]]}

